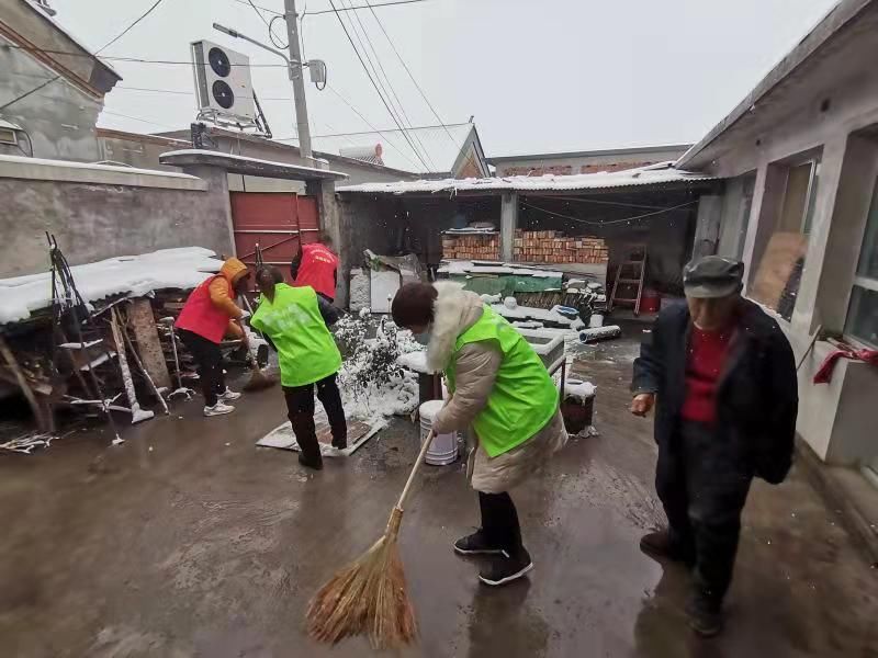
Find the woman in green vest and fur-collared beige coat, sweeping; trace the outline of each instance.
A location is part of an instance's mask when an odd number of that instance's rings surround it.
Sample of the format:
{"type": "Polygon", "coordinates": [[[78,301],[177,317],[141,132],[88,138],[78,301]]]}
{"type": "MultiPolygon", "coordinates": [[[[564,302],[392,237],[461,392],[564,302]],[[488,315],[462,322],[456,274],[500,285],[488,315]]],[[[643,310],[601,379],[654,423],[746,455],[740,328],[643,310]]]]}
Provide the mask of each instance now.
{"type": "Polygon", "coordinates": [[[409,283],[391,308],[397,326],[427,343],[427,366],[443,371],[451,398],[432,421],[439,434],[472,428],[466,474],[482,525],[458,540],[461,555],[486,555],[491,586],[533,568],[508,491],[567,441],[559,395],[540,358],[504,318],[460,284],[409,283]]]}

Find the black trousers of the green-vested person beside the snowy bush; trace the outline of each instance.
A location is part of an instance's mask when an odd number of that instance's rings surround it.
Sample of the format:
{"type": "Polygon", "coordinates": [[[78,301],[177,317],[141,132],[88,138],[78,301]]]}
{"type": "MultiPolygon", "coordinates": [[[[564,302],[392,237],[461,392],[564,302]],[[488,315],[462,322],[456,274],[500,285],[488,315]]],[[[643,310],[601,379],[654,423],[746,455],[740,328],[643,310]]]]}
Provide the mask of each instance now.
{"type": "MultiPolygon", "coordinates": [[[[320,460],[320,446],[317,442],[317,432],[314,427],[314,386],[284,386],[283,396],[286,398],[286,410],[290,423],[293,426],[295,439],[302,449],[302,454],[308,461],[320,460]]],[[[317,399],[320,400],[329,428],[333,431],[333,445],[346,447],[348,443],[348,422],[345,420],[345,408],[341,406],[341,394],[335,375],[316,383],[317,399]]]]}

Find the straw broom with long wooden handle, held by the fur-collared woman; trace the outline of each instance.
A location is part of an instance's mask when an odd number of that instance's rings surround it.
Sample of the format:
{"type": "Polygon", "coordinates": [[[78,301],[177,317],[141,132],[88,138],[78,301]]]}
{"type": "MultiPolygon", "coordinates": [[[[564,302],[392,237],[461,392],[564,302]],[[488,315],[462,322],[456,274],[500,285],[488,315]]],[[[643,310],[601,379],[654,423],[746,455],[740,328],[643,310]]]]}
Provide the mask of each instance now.
{"type": "Polygon", "coordinates": [[[375,649],[385,649],[409,644],[415,638],[415,611],[406,593],[397,537],[405,501],[432,438],[430,431],[391,512],[384,535],[359,559],[336,572],[312,599],[307,631],[314,639],[336,644],[345,637],[368,634],[375,649]]]}

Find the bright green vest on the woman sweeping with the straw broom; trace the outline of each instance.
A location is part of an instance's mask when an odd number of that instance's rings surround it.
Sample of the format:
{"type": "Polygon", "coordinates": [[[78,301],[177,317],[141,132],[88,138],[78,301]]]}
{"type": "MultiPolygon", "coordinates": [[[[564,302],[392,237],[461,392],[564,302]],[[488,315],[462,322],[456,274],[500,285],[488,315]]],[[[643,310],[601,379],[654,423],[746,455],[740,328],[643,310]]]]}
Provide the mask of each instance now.
{"type": "Polygon", "coordinates": [[[542,361],[503,317],[489,306],[482,317],[458,337],[446,370],[449,390],[454,393],[454,363],[466,343],[492,341],[503,352],[497,379],[487,405],[473,421],[479,441],[491,457],[520,445],[543,429],[558,411],[559,396],[542,361]]]}

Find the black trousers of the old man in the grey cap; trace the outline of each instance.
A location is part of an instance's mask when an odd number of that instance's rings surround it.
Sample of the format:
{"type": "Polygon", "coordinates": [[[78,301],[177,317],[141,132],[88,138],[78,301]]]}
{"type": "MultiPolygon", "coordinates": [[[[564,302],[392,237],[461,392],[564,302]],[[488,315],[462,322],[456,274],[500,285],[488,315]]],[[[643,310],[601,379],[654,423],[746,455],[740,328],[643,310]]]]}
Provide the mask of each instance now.
{"type": "Polygon", "coordinates": [[[748,455],[712,426],[684,421],[677,445],[658,449],[655,488],[671,540],[694,558],[696,587],[714,602],[732,580],[751,481],[748,455]]]}

